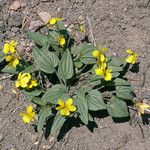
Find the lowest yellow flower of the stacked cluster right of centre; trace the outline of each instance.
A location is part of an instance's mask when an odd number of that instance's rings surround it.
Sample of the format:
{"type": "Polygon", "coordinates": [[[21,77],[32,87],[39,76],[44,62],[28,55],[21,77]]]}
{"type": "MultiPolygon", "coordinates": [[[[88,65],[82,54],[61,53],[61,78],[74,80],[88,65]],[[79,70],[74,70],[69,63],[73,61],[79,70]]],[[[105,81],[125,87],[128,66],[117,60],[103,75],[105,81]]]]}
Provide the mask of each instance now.
{"type": "Polygon", "coordinates": [[[111,81],[112,79],[111,71],[112,69],[110,68],[106,69],[106,65],[103,64],[101,67],[95,69],[95,74],[98,76],[102,76],[105,81],[111,81]]]}

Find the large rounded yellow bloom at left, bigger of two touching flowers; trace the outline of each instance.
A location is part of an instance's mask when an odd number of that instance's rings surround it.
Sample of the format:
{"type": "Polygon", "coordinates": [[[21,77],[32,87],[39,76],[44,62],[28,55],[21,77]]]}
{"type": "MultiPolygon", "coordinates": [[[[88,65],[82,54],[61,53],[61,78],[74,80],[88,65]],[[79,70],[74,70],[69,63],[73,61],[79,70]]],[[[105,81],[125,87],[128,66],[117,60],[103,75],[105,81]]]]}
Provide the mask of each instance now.
{"type": "Polygon", "coordinates": [[[26,88],[30,80],[31,80],[30,73],[19,73],[15,85],[17,88],[18,87],[26,88]]]}

